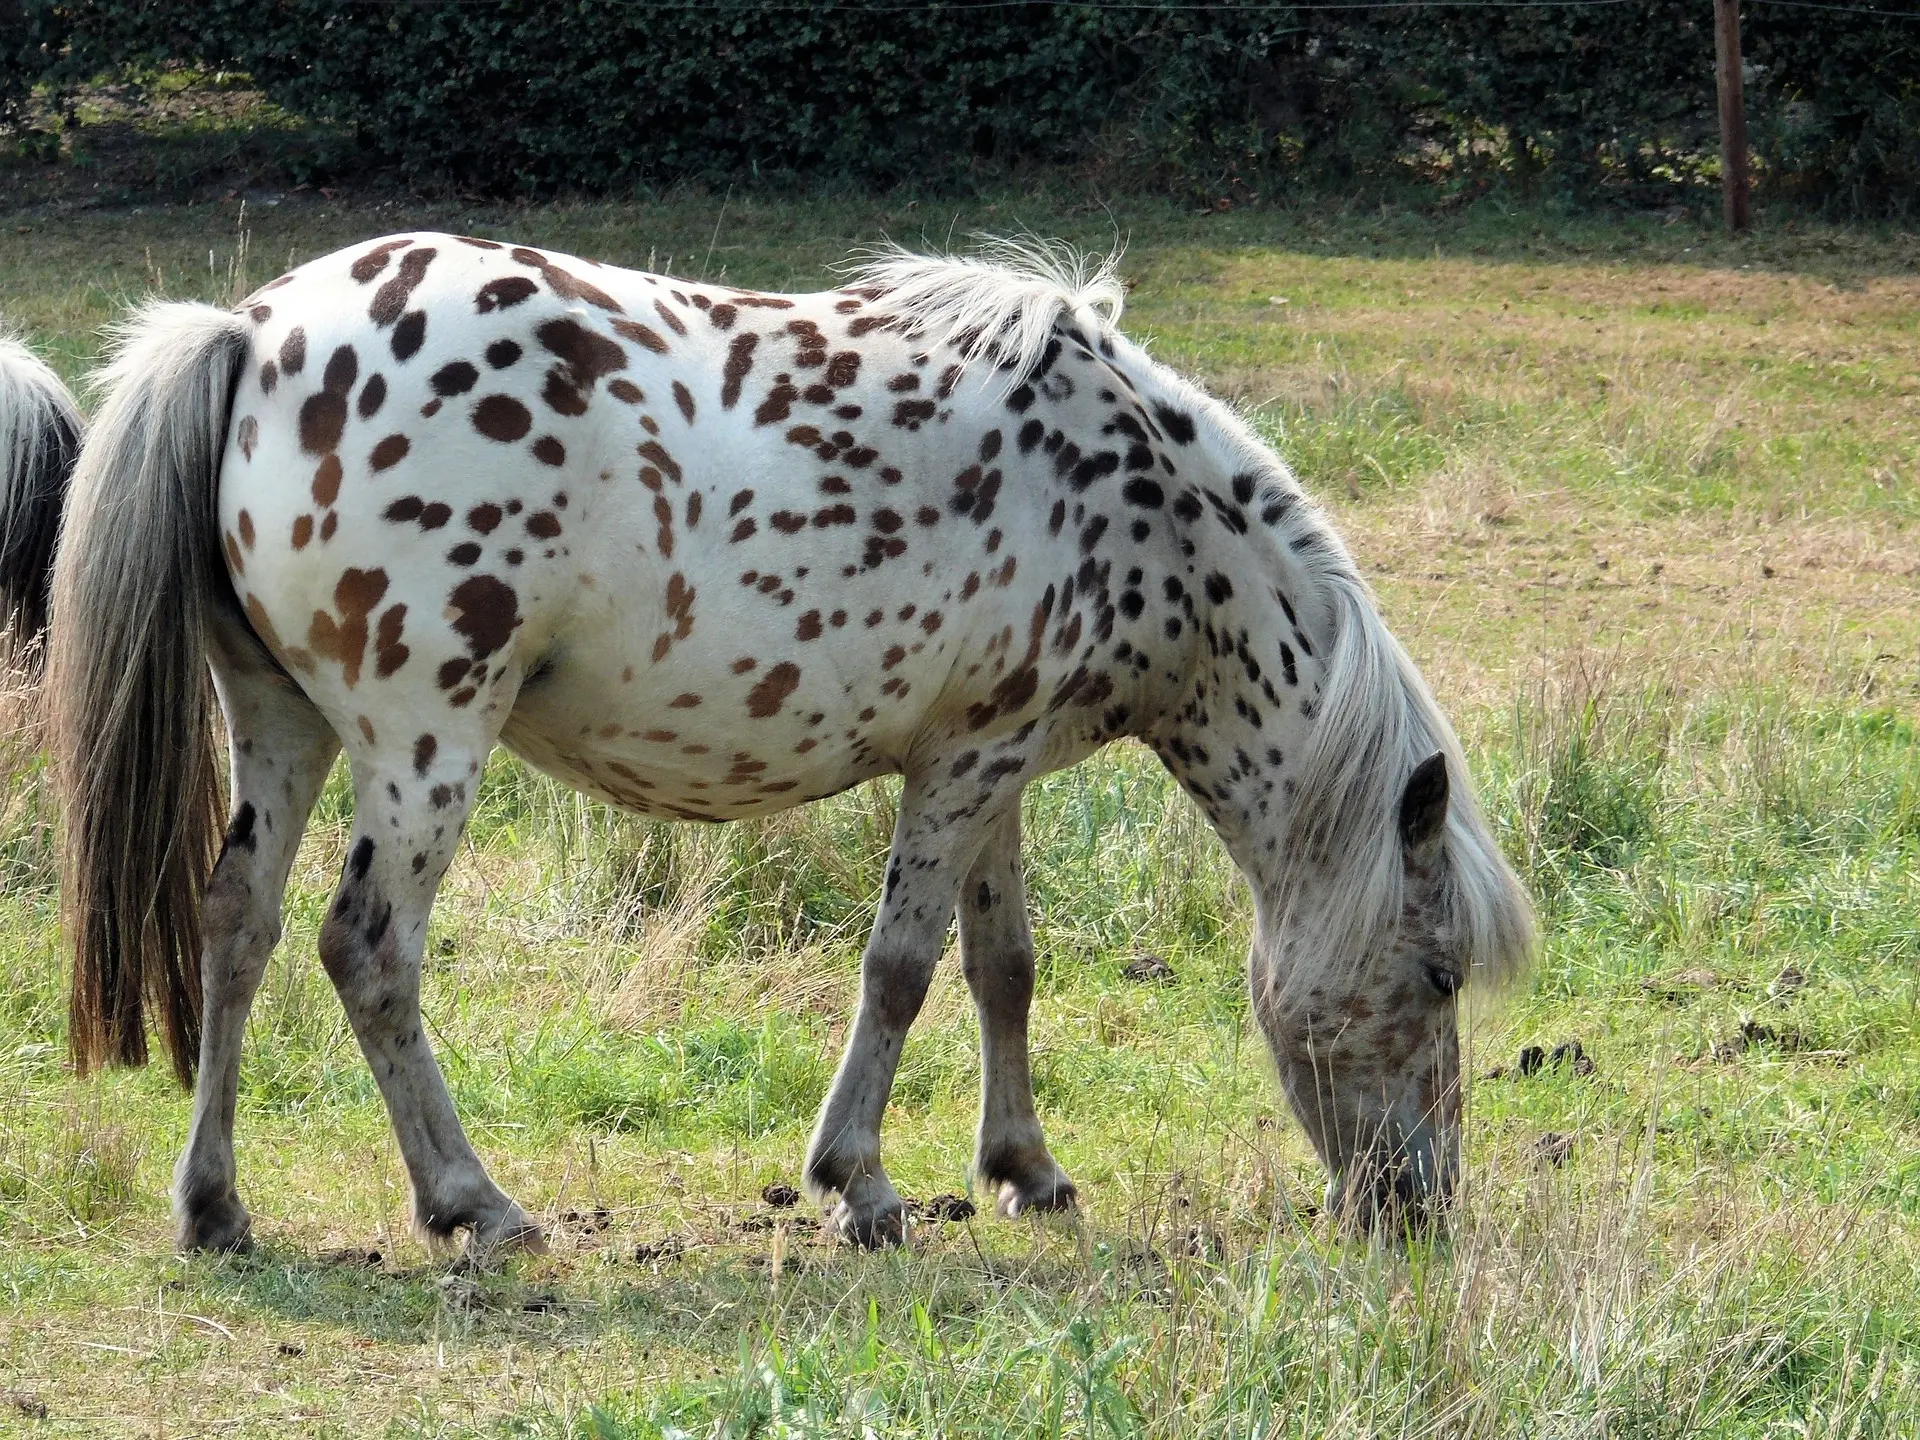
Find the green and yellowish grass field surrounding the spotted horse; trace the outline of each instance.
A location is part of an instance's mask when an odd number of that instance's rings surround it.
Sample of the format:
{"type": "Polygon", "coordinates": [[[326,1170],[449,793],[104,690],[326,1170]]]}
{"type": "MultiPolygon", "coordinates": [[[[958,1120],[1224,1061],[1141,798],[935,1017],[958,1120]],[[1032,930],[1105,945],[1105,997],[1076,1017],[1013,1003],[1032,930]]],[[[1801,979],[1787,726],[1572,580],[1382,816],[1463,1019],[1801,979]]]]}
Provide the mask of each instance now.
{"type": "MultiPolygon", "coordinates": [[[[495,762],[428,1016],[555,1240],[405,1238],[315,964],[336,776],[242,1075],[261,1248],[169,1254],[186,1100],[63,1068],[50,812],[0,814],[0,1432],[1903,1436],[1920,1432],[1920,242],[1657,217],[1158,202],[238,205],[0,217],[0,315],[67,374],[150,288],[225,298],[415,225],[818,286],[851,244],[1129,242],[1129,328],[1332,505],[1538,899],[1473,1021],[1467,1196],[1350,1244],[1242,996],[1248,908],[1142,751],[1029,793],[1037,1091],[1075,1225],[822,1240],[797,1181],[891,793],[666,829],[495,762]],[[240,253],[246,238],[244,257],[240,253]],[[1171,981],[1123,968],[1158,954],[1171,981]],[[1521,1075],[1523,1046],[1586,1066],[1521,1075]]],[[[966,1190],[945,964],[887,1162],[966,1190]]]]}

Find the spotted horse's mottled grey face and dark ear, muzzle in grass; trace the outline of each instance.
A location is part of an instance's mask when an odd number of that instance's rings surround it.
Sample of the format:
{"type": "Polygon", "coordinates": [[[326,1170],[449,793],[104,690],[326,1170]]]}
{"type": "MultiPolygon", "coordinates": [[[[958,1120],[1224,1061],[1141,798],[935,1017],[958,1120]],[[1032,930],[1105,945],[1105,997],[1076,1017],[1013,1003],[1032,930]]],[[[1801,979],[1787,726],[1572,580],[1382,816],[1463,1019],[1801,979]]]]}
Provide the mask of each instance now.
{"type": "Polygon", "coordinates": [[[1261,924],[1254,941],[1254,1014],[1327,1164],[1327,1208],[1361,1229],[1430,1215],[1459,1171],[1455,993],[1473,939],[1448,852],[1448,789],[1444,755],[1405,781],[1400,920],[1371,954],[1319,970],[1298,952],[1283,958],[1298,935],[1261,924]]]}

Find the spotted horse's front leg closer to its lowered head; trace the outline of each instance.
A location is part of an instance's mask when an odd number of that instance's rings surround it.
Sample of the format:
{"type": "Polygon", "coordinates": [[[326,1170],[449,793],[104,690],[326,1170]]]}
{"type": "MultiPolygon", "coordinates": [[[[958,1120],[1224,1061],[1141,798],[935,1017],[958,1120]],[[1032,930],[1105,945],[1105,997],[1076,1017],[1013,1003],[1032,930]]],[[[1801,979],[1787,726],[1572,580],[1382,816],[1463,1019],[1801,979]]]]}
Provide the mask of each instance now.
{"type": "Polygon", "coordinates": [[[989,833],[960,887],[960,964],[979,1012],[979,1144],[973,1175],[998,1190],[1002,1215],[1069,1210],[1073,1181],[1046,1150],[1033,1114],[1027,1012],[1033,931],[1020,870],[1020,810],[989,833]]]}

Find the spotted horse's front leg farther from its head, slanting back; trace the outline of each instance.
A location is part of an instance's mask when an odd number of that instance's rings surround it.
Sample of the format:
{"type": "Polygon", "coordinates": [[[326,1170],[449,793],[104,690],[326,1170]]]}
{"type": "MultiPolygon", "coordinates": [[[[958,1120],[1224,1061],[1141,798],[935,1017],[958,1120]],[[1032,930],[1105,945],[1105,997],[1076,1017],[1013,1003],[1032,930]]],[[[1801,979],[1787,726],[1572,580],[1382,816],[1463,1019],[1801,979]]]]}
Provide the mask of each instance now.
{"type": "Polygon", "coordinates": [[[906,1029],[927,998],[960,881],[1008,804],[1012,776],[960,785],[943,760],[906,778],[874,933],[860,960],[860,1010],[806,1146],[806,1188],[839,1196],[833,1223],[862,1246],[906,1238],[906,1210],[879,1164],[879,1119],[893,1094],[906,1029]]]}

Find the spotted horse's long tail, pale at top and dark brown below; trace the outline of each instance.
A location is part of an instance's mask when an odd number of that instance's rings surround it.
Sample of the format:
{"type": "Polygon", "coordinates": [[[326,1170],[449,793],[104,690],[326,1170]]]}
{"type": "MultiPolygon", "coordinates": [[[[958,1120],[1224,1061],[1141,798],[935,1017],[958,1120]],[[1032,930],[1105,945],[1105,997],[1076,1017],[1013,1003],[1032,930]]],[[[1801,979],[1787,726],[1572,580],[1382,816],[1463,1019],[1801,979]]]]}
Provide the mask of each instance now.
{"type": "Polygon", "coordinates": [[[238,315],[148,303],[100,374],[106,403],[73,472],[48,722],[83,1073],[146,1062],[148,1004],[182,1083],[200,1052],[200,902],[221,837],[205,657],[230,595],[219,468],[248,348],[238,315]]]}

